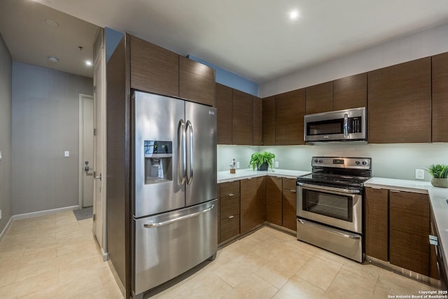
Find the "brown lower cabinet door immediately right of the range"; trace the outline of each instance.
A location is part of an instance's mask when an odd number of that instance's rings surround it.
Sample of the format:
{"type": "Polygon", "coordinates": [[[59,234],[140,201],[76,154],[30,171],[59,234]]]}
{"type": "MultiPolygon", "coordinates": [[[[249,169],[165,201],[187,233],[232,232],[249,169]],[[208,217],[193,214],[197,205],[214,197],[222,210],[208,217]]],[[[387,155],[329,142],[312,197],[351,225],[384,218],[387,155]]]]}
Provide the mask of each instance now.
{"type": "Polygon", "coordinates": [[[367,256],[388,261],[388,190],[365,188],[367,256]]]}

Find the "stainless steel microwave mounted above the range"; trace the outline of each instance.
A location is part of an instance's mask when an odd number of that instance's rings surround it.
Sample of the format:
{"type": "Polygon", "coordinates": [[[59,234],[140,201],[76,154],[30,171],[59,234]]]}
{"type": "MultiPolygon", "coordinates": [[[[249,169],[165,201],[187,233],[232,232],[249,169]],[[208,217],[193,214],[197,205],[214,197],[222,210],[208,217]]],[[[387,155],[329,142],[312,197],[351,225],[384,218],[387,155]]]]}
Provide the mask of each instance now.
{"type": "Polygon", "coordinates": [[[304,141],[365,141],[365,107],[307,114],[304,117],[304,141]]]}

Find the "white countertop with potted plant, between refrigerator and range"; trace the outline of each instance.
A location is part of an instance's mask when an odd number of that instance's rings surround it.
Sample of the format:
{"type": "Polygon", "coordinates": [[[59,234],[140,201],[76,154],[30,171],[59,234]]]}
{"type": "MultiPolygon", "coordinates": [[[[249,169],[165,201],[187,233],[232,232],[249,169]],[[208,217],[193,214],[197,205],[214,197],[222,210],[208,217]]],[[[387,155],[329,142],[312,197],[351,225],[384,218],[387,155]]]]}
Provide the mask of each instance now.
{"type": "Polygon", "coordinates": [[[218,183],[225,183],[228,181],[236,181],[240,179],[249,179],[255,178],[257,176],[281,176],[283,178],[295,179],[297,176],[304,176],[307,174],[311,174],[311,172],[304,172],[301,170],[290,170],[290,169],[279,169],[274,168],[274,171],[271,169],[260,172],[258,170],[252,170],[251,168],[244,169],[236,169],[235,174],[231,174],[230,170],[225,170],[222,172],[218,172],[218,183]]]}

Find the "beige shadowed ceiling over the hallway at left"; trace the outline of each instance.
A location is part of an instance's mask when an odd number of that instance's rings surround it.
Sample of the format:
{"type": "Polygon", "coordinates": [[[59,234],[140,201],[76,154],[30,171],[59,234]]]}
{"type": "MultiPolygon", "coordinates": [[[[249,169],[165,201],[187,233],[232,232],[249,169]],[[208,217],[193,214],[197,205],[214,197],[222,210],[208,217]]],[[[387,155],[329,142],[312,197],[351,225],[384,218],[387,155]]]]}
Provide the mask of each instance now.
{"type": "Polygon", "coordinates": [[[0,33],[14,61],[93,77],[92,66],[85,62],[92,62],[99,27],[31,0],[0,1],[0,33]],[[50,62],[49,56],[59,61],[50,62]]]}

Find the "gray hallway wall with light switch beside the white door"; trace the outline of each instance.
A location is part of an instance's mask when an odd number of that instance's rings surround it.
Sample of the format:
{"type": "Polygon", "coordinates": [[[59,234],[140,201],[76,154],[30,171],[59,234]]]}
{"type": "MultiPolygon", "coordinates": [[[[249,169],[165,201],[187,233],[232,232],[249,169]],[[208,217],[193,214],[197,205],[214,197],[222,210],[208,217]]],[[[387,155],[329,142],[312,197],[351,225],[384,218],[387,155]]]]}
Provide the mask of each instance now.
{"type": "Polygon", "coordinates": [[[92,95],[92,85],[13,62],[14,215],[78,205],[79,94],[92,95]]]}

